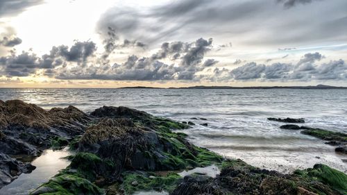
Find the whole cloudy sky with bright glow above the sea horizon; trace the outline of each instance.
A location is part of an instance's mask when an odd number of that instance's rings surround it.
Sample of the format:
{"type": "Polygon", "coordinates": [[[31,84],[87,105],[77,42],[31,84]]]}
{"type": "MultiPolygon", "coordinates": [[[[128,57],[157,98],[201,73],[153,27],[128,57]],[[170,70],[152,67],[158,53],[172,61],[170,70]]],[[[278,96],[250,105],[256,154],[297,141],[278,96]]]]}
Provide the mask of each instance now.
{"type": "Polygon", "coordinates": [[[347,87],[346,0],[0,0],[0,87],[347,87]]]}

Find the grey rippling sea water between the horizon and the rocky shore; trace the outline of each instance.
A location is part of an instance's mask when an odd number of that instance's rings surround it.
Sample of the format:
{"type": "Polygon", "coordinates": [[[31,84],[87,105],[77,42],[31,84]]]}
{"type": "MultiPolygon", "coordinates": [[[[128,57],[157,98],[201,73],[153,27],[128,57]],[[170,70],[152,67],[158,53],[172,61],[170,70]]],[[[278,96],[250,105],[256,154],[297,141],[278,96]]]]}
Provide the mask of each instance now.
{"type": "Polygon", "coordinates": [[[190,142],[256,167],[288,173],[323,163],[347,173],[347,155],[266,119],[305,118],[305,126],[347,133],[347,90],[0,89],[0,99],[22,99],[45,109],[74,105],[85,112],[124,105],[193,121],[197,125],[184,130],[190,142]]]}

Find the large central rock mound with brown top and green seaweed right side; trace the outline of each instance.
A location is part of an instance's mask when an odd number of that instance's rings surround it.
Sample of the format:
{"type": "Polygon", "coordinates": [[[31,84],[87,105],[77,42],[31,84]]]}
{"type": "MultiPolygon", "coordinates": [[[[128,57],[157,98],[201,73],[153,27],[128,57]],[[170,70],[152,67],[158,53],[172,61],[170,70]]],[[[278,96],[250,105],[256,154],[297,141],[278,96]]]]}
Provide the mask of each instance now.
{"type": "Polygon", "coordinates": [[[115,178],[119,178],[123,169],[178,170],[221,161],[218,155],[189,144],[185,134],[172,133],[169,127],[179,127],[178,123],[149,120],[151,128],[125,118],[103,119],[87,128],[78,151],[115,162],[112,173],[115,178]]]}

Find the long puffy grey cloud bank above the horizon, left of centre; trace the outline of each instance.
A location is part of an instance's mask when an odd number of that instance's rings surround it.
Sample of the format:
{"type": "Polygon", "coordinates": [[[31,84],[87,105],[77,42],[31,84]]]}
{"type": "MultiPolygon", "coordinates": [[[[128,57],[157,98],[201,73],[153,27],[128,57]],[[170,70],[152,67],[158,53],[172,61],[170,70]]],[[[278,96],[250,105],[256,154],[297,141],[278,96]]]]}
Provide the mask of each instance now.
{"type": "Polygon", "coordinates": [[[60,79],[101,79],[101,80],[193,80],[196,73],[205,67],[217,64],[216,60],[203,62],[205,53],[210,51],[212,39],[203,38],[195,42],[165,42],[157,53],[150,57],[129,56],[122,64],[90,65],[58,69],[56,78],[60,79]],[[174,57],[178,56],[178,57],[174,57]],[[167,65],[159,60],[179,60],[174,65],[167,65]]]}

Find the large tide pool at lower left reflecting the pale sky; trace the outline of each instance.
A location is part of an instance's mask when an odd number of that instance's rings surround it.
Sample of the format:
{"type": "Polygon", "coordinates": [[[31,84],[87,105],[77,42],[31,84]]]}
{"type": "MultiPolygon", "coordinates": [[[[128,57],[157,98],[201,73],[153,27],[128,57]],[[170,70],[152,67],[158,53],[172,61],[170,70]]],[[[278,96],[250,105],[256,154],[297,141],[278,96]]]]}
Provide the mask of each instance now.
{"type": "Polygon", "coordinates": [[[69,165],[69,160],[64,157],[70,155],[67,149],[62,151],[46,150],[36,158],[32,164],[36,169],[32,173],[22,173],[16,180],[0,189],[1,195],[16,194],[24,195],[45,183],[52,176],[56,175],[60,169],[65,169],[69,165]]]}

